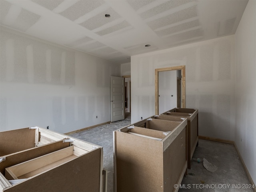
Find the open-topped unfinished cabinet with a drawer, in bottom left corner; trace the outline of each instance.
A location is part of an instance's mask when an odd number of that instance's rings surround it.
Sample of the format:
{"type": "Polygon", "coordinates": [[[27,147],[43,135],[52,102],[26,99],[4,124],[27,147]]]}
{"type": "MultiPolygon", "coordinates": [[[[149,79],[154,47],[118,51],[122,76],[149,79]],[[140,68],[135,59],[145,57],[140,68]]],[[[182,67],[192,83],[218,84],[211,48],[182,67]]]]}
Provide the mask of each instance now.
{"type": "Polygon", "coordinates": [[[0,191],[102,191],[103,148],[40,127],[0,132],[0,191]]]}

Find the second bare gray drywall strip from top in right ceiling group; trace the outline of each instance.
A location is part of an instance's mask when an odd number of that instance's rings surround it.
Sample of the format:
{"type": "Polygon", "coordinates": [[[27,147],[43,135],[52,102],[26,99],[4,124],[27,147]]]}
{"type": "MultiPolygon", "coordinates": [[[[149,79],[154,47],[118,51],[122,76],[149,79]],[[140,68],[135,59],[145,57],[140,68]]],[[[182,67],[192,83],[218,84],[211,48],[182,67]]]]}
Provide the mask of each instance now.
{"type": "MultiPolygon", "coordinates": [[[[163,1],[164,2],[164,1],[163,1]]],[[[160,4],[150,10],[147,10],[146,12],[140,14],[140,16],[143,18],[143,19],[146,19],[146,18],[150,18],[156,14],[160,14],[164,11],[168,11],[174,7],[178,7],[182,4],[186,4],[188,2],[191,2],[191,0],[172,0],[172,1],[168,1],[166,3],[163,3],[163,4],[160,4]]]]}

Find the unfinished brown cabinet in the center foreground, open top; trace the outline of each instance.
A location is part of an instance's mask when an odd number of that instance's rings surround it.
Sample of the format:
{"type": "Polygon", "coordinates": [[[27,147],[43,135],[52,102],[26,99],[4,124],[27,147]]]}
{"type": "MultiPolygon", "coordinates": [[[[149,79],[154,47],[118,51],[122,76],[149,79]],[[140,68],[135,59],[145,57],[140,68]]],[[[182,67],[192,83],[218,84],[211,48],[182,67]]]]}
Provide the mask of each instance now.
{"type": "Polygon", "coordinates": [[[113,132],[115,191],[178,191],[187,170],[187,120],[150,119],[113,132]]]}

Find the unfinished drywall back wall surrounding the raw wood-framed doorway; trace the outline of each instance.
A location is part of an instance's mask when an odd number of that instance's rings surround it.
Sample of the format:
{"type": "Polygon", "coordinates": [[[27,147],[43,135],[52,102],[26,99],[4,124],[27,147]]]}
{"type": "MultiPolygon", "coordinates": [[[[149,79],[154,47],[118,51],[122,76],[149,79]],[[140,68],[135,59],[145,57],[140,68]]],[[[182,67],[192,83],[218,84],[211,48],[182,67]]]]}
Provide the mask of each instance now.
{"type": "Polygon", "coordinates": [[[199,134],[234,140],[234,35],[131,58],[132,123],[155,113],[156,68],[186,66],[186,107],[199,112],[199,134]]]}

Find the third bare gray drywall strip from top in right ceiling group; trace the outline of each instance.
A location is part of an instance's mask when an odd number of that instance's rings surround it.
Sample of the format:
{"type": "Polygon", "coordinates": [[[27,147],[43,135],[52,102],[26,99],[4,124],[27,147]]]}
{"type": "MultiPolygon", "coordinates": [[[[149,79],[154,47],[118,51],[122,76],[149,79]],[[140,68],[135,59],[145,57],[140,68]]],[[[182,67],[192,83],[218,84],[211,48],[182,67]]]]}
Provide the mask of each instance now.
{"type": "Polygon", "coordinates": [[[195,16],[197,16],[196,6],[192,6],[192,7],[180,10],[178,12],[175,12],[173,14],[170,14],[168,16],[164,16],[162,18],[148,22],[148,26],[150,26],[150,28],[155,30],[157,28],[174,24],[176,22],[180,22],[182,20],[189,19],[195,16]]]}

